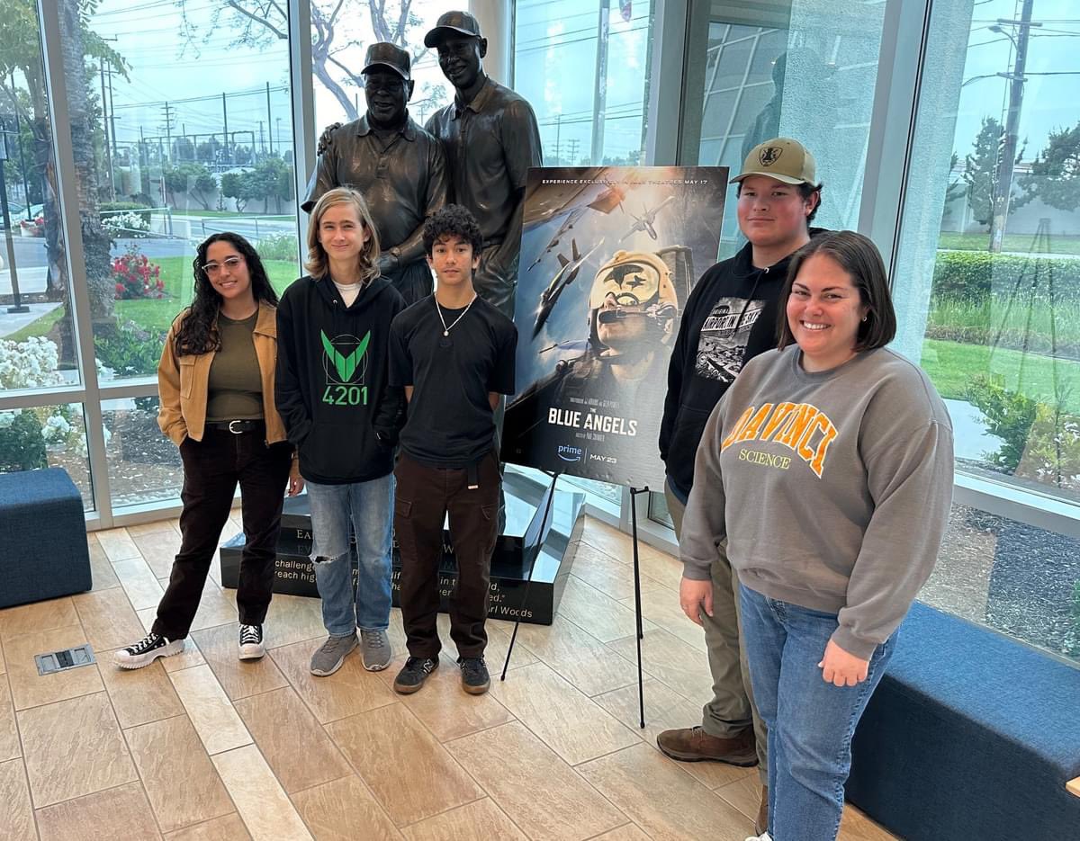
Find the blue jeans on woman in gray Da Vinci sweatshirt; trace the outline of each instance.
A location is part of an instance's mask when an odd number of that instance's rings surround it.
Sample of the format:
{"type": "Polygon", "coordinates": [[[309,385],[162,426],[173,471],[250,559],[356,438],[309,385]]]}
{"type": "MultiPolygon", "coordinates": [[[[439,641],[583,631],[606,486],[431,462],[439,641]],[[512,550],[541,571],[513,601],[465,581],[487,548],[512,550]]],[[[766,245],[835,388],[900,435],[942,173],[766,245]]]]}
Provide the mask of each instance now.
{"type": "Polygon", "coordinates": [[[835,841],[851,770],[851,737],[892,656],[878,646],[866,680],[836,687],[818,663],[837,628],[823,613],[740,587],[743,642],[758,713],[769,731],[769,835],[773,841],[835,841]]]}

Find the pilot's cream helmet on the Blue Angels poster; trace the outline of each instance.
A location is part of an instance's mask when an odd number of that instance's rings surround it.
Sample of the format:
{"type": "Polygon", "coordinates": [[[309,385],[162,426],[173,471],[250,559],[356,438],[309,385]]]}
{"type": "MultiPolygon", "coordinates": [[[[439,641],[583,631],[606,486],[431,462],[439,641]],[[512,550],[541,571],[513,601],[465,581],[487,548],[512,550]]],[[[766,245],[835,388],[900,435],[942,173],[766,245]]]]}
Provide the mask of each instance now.
{"type": "Polygon", "coordinates": [[[671,269],[651,252],[616,252],[596,272],[589,294],[589,334],[597,351],[618,344],[623,325],[643,341],[667,343],[675,336],[678,297],[671,269]]]}

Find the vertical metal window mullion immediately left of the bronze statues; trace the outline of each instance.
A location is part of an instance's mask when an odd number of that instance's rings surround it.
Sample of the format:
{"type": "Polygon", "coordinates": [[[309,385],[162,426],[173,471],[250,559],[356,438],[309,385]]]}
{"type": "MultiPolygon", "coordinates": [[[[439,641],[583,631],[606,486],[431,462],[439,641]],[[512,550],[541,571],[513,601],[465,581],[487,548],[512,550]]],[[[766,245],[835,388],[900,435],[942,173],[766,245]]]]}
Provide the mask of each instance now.
{"type": "MultiPolygon", "coordinates": [[[[40,1],[40,0],[39,0],[40,1]]],[[[288,77],[293,118],[293,175],[300,264],[307,257],[308,215],[300,202],[315,168],[315,93],[311,73],[311,0],[288,0],[288,77]]]]}

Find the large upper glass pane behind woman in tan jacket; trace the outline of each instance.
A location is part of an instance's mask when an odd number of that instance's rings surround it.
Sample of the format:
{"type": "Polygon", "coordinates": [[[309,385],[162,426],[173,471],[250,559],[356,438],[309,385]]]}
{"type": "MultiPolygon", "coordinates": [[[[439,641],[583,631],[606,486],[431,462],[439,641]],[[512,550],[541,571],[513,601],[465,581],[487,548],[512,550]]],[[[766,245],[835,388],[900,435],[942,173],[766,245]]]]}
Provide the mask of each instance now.
{"type": "Polygon", "coordinates": [[[103,385],[154,374],[211,233],[251,240],[279,289],[299,274],[288,45],[274,35],[282,22],[260,17],[278,5],[103,0],[89,15],[62,12],[103,385]]]}

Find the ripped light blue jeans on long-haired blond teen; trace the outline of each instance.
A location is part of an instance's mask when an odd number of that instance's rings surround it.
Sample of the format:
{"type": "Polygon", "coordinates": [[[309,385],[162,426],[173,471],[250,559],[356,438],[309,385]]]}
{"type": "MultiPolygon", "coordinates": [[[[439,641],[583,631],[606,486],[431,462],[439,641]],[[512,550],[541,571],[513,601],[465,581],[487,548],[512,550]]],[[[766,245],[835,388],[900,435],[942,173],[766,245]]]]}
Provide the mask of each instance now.
{"type": "Polygon", "coordinates": [[[314,545],[311,559],[323,599],[323,624],[343,637],[390,625],[390,542],[394,475],[351,485],[309,481],[314,545]],[[356,535],[357,577],[352,580],[349,523],[356,535]]]}

